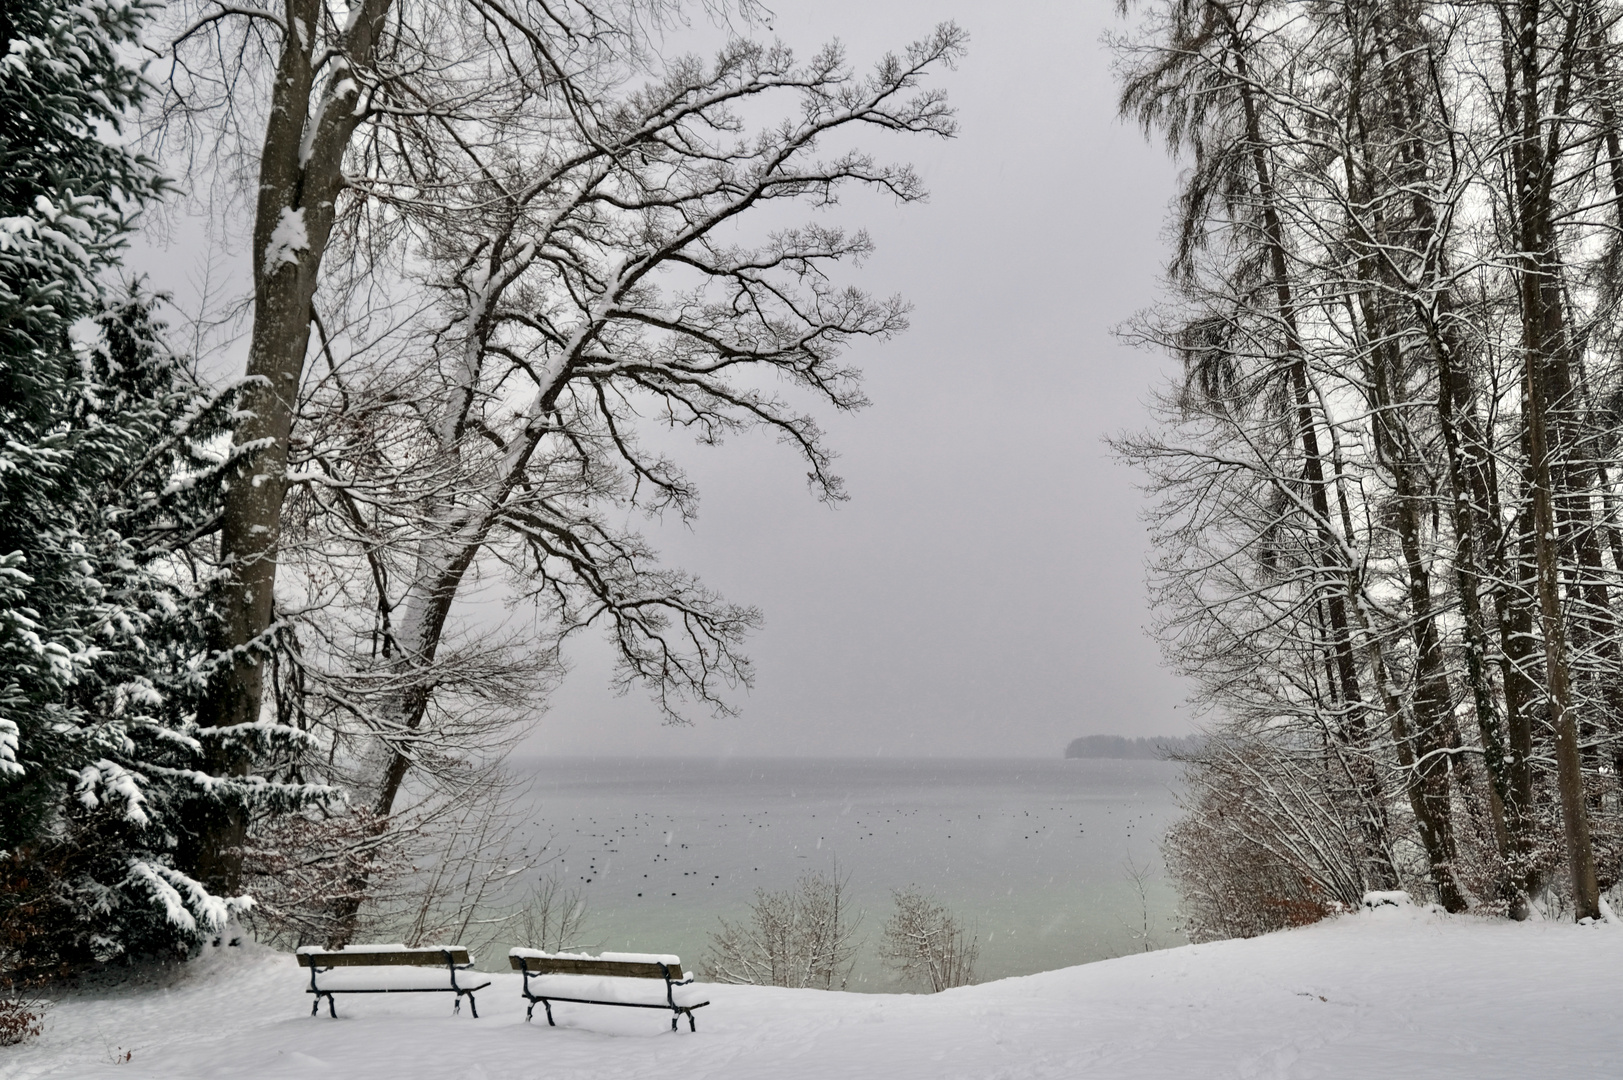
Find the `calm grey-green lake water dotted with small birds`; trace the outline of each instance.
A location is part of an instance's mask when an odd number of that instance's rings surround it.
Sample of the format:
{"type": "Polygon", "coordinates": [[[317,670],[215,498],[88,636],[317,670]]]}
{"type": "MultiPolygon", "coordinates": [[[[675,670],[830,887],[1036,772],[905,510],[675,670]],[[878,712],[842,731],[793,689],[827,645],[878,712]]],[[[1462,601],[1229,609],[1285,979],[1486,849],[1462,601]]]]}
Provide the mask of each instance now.
{"type": "Polygon", "coordinates": [[[1178,770],[1112,760],[544,758],[534,828],[588,901],[604,948],[703,960],[717,918],[807,870],[849,875],[873,958],[891,890],[917,885],[980,937],[980,978],[1182,944],[1159,840],[1178,770]],[[1125,864],[1147,866],[1147,900],[1125,864]]]}

